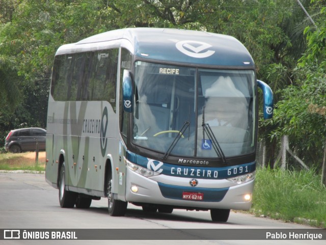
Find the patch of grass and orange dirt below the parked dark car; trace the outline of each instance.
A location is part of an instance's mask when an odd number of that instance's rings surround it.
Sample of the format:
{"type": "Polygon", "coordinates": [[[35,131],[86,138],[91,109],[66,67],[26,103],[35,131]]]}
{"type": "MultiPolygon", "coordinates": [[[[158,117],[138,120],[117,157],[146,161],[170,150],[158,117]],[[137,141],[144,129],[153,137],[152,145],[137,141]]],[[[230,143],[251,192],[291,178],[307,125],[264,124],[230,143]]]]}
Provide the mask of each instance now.
{"type": "Polygon", "coordinates": [[[42,159],[36,163],[35,152],[0,153],[0,170],[44,171],[45,162],[42,159]]]}

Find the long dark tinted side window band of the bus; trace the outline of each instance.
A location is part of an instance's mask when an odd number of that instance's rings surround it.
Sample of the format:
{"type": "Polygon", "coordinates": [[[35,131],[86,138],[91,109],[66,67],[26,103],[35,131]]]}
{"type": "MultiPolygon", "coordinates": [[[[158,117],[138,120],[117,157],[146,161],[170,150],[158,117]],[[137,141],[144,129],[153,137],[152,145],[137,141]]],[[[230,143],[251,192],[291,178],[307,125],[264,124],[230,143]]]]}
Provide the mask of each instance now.
{"type": "Polygon", "coordinates": [[[118,49],[57,56],[51,94],[58,101],[106,100],[116,111],[118,49]]]}

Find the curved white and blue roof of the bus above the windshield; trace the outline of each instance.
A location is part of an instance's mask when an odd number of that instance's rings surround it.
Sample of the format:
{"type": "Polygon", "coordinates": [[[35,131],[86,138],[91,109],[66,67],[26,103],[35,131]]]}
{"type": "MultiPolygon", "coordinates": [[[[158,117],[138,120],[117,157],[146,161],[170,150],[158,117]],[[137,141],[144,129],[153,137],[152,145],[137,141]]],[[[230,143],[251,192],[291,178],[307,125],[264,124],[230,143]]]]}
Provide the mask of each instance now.
{"type": "Polygon", "coordinates": [[[250,53],[237,39],[201,31],[128,28],[91,36],[70,48],[75,46],[79,49],[78,46],[122,39],[130,42],[136,59],[247,69],[254,67],[250,53]]]}

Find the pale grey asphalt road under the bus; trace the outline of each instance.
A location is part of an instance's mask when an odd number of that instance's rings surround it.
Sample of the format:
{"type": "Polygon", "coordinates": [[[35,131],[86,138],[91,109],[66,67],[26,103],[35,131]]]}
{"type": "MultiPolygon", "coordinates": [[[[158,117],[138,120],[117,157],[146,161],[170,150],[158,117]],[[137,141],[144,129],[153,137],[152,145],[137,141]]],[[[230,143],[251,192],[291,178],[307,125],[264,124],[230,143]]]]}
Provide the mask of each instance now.
{"type": "MultiPolygon", "coordinates": [[[[107,213],[107,200],[93,201],[89,209],[60,208],[58,190],[45,182],[43,174],[0,173],[0,229],[197,229],[193,240],[0,240],[0,244],[325,244],[325,240],[211,240],[207,229],[308,229],[311,227],[231,211],[227,223],[212,223],[207,211],[174,210],[172,214],[144,213],[128,204],[124,217],[107,213]],[[203,229],[201,232],[198,229],[203,229]],[[197,237],[197,238],[196,238],[197,237]],[[209,237],[209,236],[208,236],[209,237]]],[[[230,230],[231,229],[231,230],[230,230]]],[[[121,230],[120,230],[121,231],[121,230]]],[[[129,230],[130,231],[130,230],[129,230]]],[[[227,230],[226,230],[227,231],[227,230]]],[[[286,231],[286,230],[284,230],[286,231]]],[[[237,232],[237,230],[234,230],[237,232]]],[[[253,233],[253,239],[254,237],[253,233]]],[[[184,234],[183,234],[184,235],[184,234]]],[[[128,237],[128,230],[126,230],[128,237]]],[[[1,237],[1,236],[0,236],[1,237]]],[[[325,238],[323,238],[325,239],[325,238]]]]}

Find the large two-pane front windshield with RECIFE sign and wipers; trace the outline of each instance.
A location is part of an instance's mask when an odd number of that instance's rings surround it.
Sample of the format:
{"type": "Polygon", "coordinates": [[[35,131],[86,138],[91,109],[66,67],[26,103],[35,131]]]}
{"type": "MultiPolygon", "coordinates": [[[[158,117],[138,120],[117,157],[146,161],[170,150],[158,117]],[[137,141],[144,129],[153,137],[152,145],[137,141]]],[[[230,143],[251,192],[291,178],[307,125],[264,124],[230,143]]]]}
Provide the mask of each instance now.
{"type": "Polygon", "coordinates": [[[200,158],[254,152],[253,70],[138,61],[134,81],[134,145],[200,158]]]}

